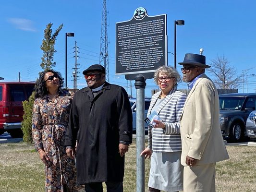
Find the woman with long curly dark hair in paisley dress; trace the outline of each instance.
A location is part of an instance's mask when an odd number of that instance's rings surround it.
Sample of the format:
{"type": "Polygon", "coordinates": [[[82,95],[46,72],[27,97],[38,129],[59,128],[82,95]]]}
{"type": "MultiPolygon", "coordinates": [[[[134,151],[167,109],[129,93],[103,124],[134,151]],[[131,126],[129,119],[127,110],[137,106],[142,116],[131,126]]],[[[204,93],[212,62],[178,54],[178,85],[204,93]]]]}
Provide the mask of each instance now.
{"type": "Polygon", "coordinates": [[[65,133],[73,92],[62,89],[59,72],[39,74],[35,86],[32,135],[40,159],[45,164],[46,192],[77,192],[74,159],[66,154],[65,133]]]}

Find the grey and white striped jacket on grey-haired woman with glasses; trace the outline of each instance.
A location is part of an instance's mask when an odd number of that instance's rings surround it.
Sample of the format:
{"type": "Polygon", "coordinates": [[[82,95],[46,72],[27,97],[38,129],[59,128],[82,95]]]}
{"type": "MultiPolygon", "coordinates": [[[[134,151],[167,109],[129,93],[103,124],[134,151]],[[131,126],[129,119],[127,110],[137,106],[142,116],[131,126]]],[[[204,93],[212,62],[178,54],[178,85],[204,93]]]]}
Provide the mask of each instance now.
{"type": "MultiPolygon", "coordinates": [[[[158,100],[161,91],[154,94],[147,116],[158,100]]],[[[165,130],[148,127],[148,147],[154,152],[166,153],[182,151],[180,135],[180,117],[186,101],[186,95],[176,90],[176,87],[160,103],[156,110],[165,123],[165,130]]]]}

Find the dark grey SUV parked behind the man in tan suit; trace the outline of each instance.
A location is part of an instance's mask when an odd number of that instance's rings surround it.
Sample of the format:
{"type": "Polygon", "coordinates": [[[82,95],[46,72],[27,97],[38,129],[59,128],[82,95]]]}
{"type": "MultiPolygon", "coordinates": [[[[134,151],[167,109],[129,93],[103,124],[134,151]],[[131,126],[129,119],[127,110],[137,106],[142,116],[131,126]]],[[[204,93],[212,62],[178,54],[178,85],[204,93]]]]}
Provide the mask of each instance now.
{"type": "Polygon", "coordinates": [[[256,93],[236,93],[219,95],[219,123],[223,136],[238,142],[245,132],[246,120],[255,110],[256,93]]]}

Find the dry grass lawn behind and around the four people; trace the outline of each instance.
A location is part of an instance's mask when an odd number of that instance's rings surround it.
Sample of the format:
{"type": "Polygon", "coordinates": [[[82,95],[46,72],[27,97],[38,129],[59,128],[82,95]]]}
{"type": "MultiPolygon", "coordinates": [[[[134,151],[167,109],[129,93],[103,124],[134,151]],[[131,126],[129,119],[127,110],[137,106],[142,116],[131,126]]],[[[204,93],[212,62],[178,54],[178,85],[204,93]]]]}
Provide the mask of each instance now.
{"type": "MultiPolygon", "coordinates": [[[[217,192],[256,191],[256,147],[229,146],[230,159],[216,166],[217,192]]],[[[0,144],[0,192],[44,192],[44,165],[33,144],[0,144]]],[[[136,192],[136,144],[125,155],[124,192],[136,192]]],[[[149,174],[145,161],[145,186],[149,174]]]]}

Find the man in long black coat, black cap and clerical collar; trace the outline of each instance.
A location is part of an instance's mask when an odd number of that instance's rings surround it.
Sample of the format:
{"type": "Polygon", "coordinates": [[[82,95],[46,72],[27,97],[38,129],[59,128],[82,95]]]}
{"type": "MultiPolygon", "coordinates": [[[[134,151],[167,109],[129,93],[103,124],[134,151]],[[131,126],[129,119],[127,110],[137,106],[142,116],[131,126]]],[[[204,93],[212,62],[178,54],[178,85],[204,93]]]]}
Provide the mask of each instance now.
{"type": "Polygon", "coordinates": [[[132,110],[126,91],[105,82],[105,68],[83,74],[88,87],[73,97],[65,146],[76,156],[77,182],[85,192],[123,192],[124,154],[132,143],[132,110]],[[75,145],[77,142],[76,150],[75,145]]]}

